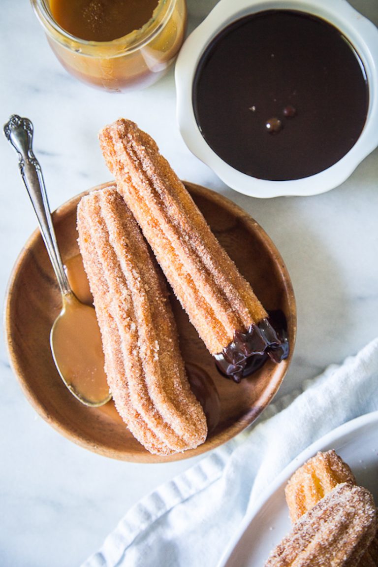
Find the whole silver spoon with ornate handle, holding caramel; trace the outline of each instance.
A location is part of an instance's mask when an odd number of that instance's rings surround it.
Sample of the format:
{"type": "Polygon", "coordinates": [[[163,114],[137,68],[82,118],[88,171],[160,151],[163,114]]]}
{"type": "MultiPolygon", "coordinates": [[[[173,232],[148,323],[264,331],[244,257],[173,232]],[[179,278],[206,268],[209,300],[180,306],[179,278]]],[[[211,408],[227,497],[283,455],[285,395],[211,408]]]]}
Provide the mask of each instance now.
{"type": "Polygon", "coordinates": [[[63,268],[41,167],[33,154],[32,122],[12,115],[4,126],[4,133],[19,155],[20,174],[37,215],[62,294],[62,311],[50,332],[55,365],[63,382],[79,401],[98,407],[111,399],[104,371],[100,329],[94,308],[77,299],[63,268]]]}

